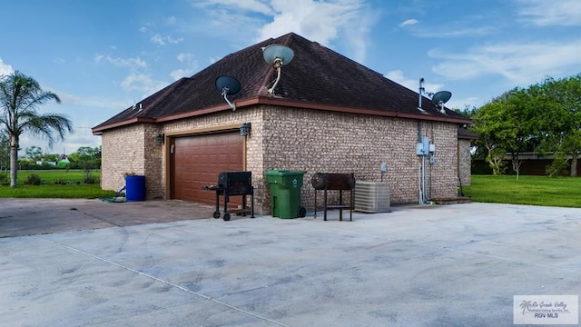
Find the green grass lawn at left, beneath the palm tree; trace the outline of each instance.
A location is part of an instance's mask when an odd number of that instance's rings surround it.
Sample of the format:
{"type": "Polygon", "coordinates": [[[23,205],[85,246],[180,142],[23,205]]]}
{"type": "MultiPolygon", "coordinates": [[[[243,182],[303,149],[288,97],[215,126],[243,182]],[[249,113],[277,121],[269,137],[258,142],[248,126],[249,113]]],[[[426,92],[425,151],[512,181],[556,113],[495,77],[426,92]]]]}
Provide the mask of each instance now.
{"type": "MultiPolygon", "coordinates": [[[[93,172],[92,176],[99,181],[99,172],[93,172]]],[[[17,187],[0,186],[0,197],[96,199],[114,196],[116,193],[103,191],[99,183],[83,181],[83,171],[18,171],[17,187]],[[40,176],[43,181],[41,185],[25,185],[26,179],[33,173],[40,176]]]]}

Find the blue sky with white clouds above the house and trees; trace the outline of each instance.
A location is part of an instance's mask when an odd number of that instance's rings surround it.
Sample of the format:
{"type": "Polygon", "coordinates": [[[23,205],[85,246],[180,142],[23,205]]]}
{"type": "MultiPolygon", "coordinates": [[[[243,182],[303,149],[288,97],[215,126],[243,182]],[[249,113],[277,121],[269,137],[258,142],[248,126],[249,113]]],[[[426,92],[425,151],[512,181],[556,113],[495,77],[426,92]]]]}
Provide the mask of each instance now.
{"type": "MultiPolygon", "coordinates": [[[[581,73],[579,0],[27,0],[0,5],[0,74],[61,97],[74,134],[48,153],[98,146],[91,127],[227,54],[289,32],[448,107],[581,73]]],[[[123,140],[120,140],[123,141],[123,140]]]]}

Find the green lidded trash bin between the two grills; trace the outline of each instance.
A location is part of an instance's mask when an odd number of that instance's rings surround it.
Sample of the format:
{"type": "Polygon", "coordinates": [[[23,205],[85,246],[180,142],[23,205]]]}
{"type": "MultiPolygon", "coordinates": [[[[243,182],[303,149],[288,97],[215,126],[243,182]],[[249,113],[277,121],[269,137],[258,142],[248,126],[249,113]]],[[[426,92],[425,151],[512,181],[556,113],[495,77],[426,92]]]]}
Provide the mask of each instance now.
{"type": "Polygon", "coordinates": [[[307,210],[300,206],[300,188],[305,171],[276,170],[266,172],[271,187],[271,214],[279,218],[302,218],[307,210]]]}

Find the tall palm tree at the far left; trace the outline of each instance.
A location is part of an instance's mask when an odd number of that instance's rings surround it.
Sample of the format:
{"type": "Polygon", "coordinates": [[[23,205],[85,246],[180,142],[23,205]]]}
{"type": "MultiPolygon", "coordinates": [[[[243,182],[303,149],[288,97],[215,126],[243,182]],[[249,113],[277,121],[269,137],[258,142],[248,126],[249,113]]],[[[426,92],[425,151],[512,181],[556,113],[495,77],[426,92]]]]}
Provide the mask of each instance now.
{"type": "Polygon", "coordinates": [[[43,91],[30,76],[18,71],[0,76],[0,133],[8,137],[10,145],[10,187],[16,187],[21,134],[44,136],[52,146],[54,133],[57,140],[64,140],[64,134],[73,132],[73,123],[67,116],[37,112],[41,104],[51,100],[61,102],[58,95],[43,91]]]}

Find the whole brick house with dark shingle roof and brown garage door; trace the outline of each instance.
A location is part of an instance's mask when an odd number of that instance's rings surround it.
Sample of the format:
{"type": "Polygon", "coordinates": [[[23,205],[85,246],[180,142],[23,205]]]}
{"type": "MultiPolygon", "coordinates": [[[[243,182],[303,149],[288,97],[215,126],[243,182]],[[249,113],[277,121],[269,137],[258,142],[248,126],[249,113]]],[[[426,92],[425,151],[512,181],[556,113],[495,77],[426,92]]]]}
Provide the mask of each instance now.
{"type": "MultiPolygon", "coordinates": [[[[223,171],[252,172],[257,213],[270,213],[264,175],[273,169],[304,170],[301,201],[313,205],[313,173],[355,173],[379,181],[388,163],[391,203],[418,203],[419,139],[435,144],[427,165],[430,197],[457,195],[460,166],[458,126],[470,120],[445,113],[419,94],[383,75],[296,34],[282,35],[226,55],[93,128],[102,136],[102,187],[118,190],[124,173],[145,175],[148,199],[214,203],[223,171]],[[276,70],[262,48],[290,47],[294,58],[281,69],[274,94],[267,87],[276,70]],[[231,110],[215,80],[231,75],[241,92],[231,110]],[[241,124],[251,133],[241,136],[241,124]]],[[[468,143],[469,144],[469,143],[468,143]]],[[[468,151],[468,149],[467,149],[468,151]]],[[[464,154],[464,152],[462,152],[464,154]]],[[[469,157],[468,157],[469,160],[469,157]]],[[[469,162],[468,162],[469,174],[469,162]]]]}

